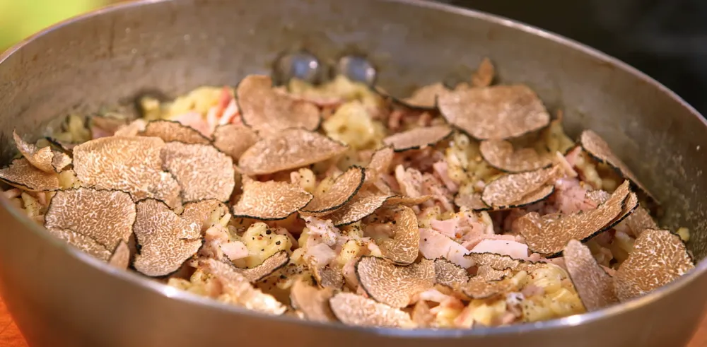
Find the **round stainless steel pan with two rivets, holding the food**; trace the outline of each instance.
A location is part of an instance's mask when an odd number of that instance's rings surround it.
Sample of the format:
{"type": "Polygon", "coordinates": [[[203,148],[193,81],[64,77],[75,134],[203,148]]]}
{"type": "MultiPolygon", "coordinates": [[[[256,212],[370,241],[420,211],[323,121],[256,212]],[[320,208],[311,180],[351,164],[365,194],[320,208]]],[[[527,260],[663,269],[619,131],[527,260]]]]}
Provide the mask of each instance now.
{"type": "MultiPolygon", "coordinates": [[[[595,129],[707,254],[707,124],[689,105],[610,57],[512,20],[427,1],[151,0],[69,20],[0,56],[0,148],[51,119],[269,73],[286,50],[323,61],[368,54],[404,93],[492,57],[595,129]]],[[[69,249],[0,199],[0,294],[32,346],[681,346],[703,312],[707,262],[643,298],[550,322],[469,331],[360,329],[265,317],[110,269],[69,249]]]]}

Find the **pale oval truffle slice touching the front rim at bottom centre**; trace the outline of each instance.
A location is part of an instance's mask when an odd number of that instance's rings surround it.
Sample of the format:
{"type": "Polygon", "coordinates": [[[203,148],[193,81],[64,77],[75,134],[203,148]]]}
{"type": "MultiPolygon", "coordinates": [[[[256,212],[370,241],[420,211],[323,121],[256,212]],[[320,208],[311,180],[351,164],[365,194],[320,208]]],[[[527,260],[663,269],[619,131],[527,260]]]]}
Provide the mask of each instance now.
{"type": "Polygon", "coordinates": [[[329,299],[334,315],[344,324],[363,327],[412,328],[407,312],[354,293],[338,293],[329,299]]]}

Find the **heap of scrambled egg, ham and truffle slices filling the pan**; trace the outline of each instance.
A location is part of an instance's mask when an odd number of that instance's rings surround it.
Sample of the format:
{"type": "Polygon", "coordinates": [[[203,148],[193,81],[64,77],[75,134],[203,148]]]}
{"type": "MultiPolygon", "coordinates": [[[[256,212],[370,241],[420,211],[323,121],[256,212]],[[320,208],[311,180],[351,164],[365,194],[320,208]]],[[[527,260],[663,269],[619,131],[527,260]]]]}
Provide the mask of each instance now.
{"type": "Polygon", "coordinates": [[[594,131],[527,86],[409,98],[343,76],[247,76],[141,117],[71,116],[0,170],[4,195],[112,266],[267,314],[489,327],[631,300],[694,267],[594,131]],[[643,205],[642,205],[643,204],[643,205]]]}

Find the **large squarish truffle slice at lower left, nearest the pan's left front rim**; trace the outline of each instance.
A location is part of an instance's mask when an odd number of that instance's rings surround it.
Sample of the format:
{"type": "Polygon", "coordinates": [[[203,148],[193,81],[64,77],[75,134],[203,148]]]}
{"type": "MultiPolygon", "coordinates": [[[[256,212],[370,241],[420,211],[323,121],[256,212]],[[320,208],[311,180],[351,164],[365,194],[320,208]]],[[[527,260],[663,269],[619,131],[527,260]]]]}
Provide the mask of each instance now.
{"type": "Polygon", "coordinates": [[[126,192],[78,188],[57,192],[49,202],[45,226],[86,235],[105,249],[128,242],[136,218],[135,203],[126,192]]]}

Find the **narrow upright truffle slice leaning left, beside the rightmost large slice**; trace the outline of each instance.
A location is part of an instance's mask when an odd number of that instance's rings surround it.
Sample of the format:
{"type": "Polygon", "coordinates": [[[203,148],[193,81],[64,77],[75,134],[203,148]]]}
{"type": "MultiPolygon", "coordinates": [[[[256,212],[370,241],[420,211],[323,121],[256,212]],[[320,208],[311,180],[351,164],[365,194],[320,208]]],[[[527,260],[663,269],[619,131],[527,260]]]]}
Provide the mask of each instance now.
{"type": "Polygon", "coordinates": [[[577,240],[570,240],[562,254],[572,283],[588,311],[600,310],[619,302],[612,276],[599,266],[587,246],[577,240]]]}

